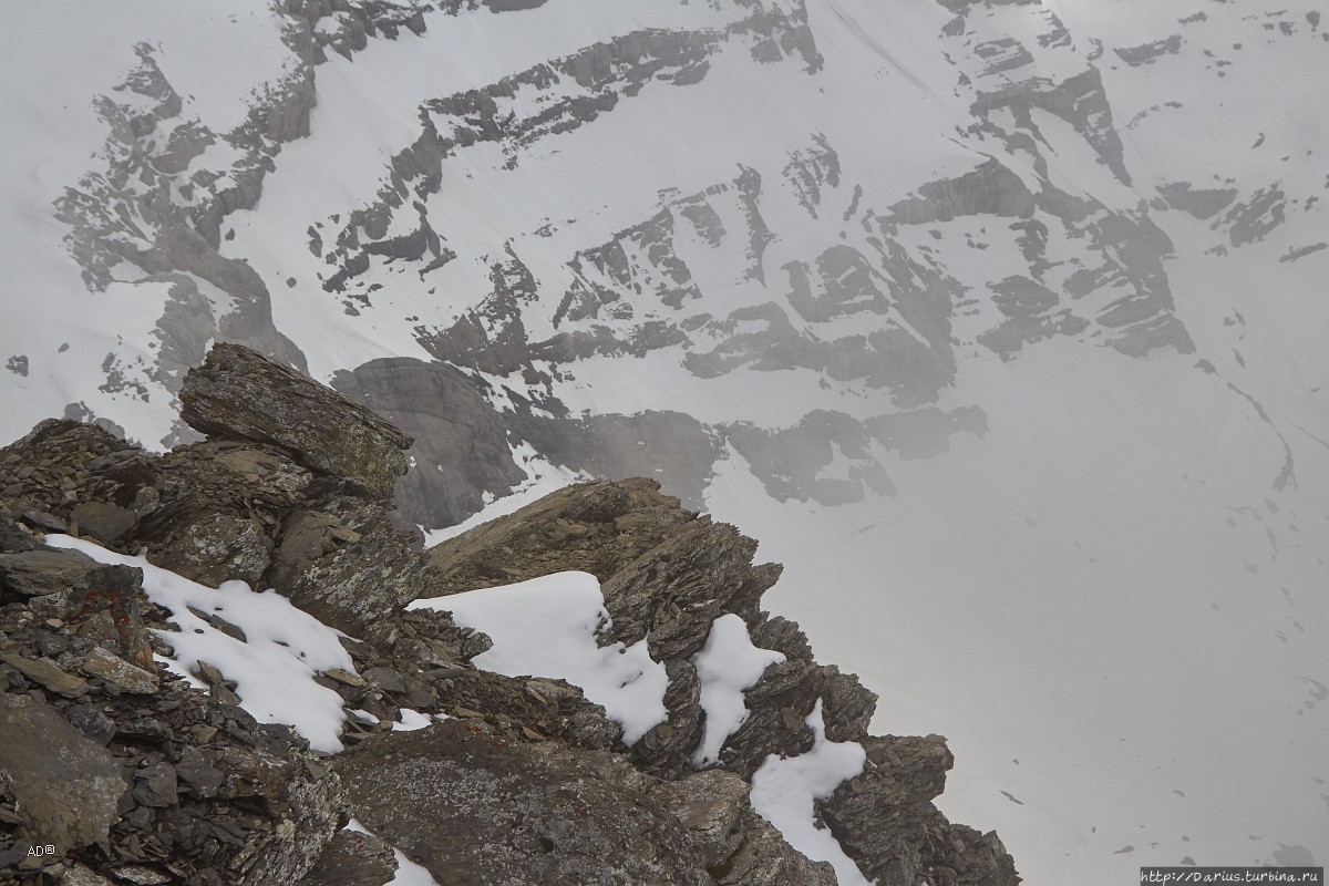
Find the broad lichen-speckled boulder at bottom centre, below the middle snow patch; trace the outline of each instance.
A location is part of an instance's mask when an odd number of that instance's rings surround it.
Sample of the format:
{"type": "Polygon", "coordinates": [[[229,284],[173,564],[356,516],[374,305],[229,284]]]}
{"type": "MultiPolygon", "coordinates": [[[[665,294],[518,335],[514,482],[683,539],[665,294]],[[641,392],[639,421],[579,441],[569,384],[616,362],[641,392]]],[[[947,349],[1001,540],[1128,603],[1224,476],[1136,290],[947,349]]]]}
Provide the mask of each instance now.
{"type": "Polygon", "coordinates": [[[610,754],[447,721],[369,739],[335,768],[355,817],[440,883],[711,883],[646,777],[610,754]]]}

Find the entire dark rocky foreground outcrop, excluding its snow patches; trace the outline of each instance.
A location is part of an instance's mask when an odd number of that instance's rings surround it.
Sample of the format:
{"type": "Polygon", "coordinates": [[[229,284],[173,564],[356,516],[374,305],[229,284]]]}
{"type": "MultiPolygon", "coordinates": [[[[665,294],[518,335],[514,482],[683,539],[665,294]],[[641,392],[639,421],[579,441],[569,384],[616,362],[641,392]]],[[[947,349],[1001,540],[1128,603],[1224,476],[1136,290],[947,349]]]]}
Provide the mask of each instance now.
{"type": "Polygon", "coordinates": [[[0,883],[381,886],[396,849],[444,885],[829,886],[748,785],[768,754],[812,747],[819,701],[827,737],[867,749],[817,814],[870,881],[1018,882],[995,834],[932,805],[944,740],[868,736],[876,697],[760,610],[780,570],[754,566],[734,527],[654,482],[599,481],[420,553],[391,518],[411,441],[363,406],[235,345],[190,372],[181,401],[207,438],[171,453],[72,421],[0,450],[0,883]],[[203,584],[276,588],[343,631],[354,671],[316,679],[344,703],[347,751],[256,723],[217,667],[194,673],[206,691],[167,673],[153,654],[171,652],[155,632],[171,614],[142,571],[47,547],[52,531],[203,584]],[[561,570],[593,573],[607,640],[646,639],[667,669],[667,721],[633,747],[577,687],[481,671],[488,638],[404,611],[561,570]],[[718,766],[696,770],[691,659],[726,614],[785,662],[746,693],[718,766]],[[439,721],[393,731],[419,715],[439,721]]]}

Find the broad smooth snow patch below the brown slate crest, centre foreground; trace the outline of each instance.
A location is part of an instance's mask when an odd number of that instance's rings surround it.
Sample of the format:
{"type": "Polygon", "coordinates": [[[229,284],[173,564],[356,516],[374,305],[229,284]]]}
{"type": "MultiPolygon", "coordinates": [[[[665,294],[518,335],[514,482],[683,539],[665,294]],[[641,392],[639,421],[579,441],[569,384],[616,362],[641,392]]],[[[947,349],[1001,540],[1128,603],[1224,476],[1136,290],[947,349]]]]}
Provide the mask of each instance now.
{"type": "Polygon", "coordinates": [[[579,685],[635,744],[668,716],[668,675],[646,640],[599,646],[613,626],[599,582],[589,573],[556,573],[529,582],[415,600],[408,610],[452,612],[457,624],[484,631],[493,648],[476,667],[506,676],[545,676],[579,685]]]}

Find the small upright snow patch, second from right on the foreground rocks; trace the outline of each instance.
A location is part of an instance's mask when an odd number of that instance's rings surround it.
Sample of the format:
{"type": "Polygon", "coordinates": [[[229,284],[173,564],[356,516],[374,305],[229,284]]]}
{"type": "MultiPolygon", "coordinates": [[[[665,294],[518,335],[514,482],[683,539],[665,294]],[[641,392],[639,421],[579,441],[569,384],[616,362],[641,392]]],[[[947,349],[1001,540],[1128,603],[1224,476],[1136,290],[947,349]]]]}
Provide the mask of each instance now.
{"type": "Polygon", "coordinates": [[[780,652],[752,644],[747,624],[738,615],[730,612],[715,619],[706,646],[692,656],[702,684],[702,711],[706,712],[702,744],[692,753],[694,766],[719,762],[720,748],[747,723],[743,691],[756,685],[768,665],[780,662],[784,662],[780,652]]]}

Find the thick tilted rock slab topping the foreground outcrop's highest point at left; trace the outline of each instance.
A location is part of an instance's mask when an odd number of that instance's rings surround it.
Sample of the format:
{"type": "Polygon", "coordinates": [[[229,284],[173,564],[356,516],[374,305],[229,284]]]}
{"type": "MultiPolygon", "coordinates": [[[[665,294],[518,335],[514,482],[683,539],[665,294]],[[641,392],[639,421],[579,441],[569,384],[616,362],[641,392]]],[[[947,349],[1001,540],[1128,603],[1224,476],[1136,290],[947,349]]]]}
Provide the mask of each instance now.
{"type": "Polygon", "coordinates": [[[238,344],[189,371],[181,418],[214,437],[275,444],[308,468],[391,495],[411,438],[364,406],[238,344]]]}

